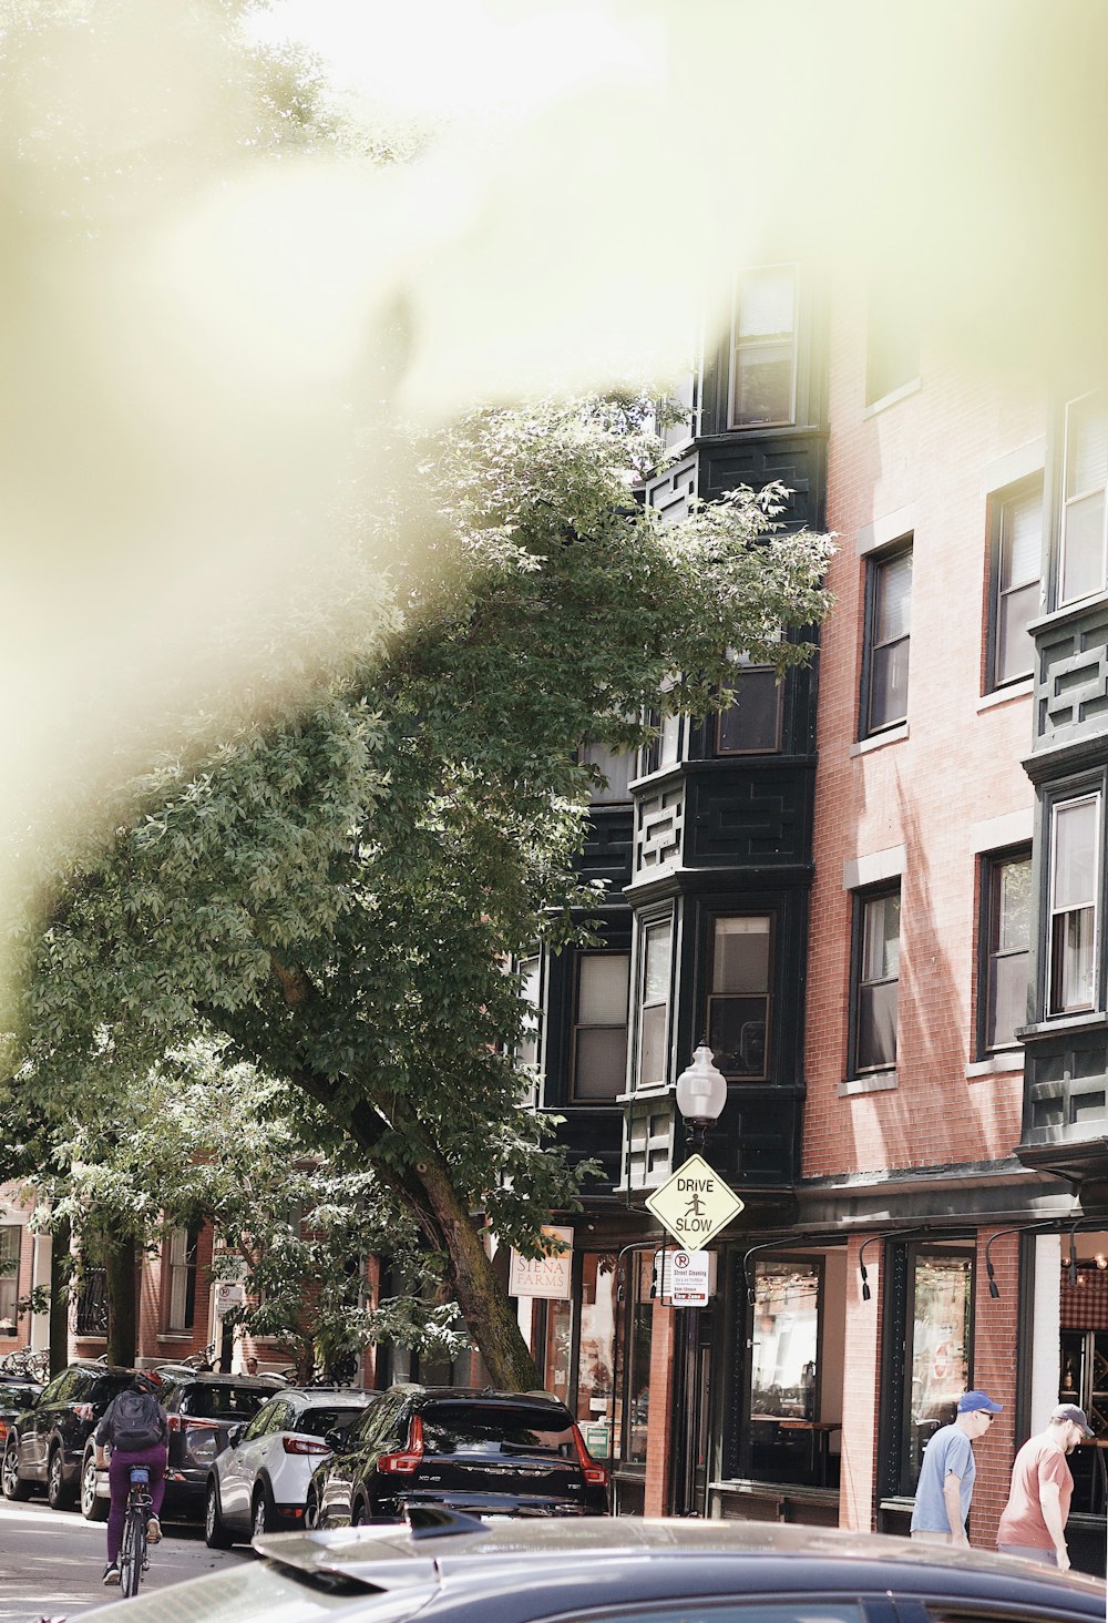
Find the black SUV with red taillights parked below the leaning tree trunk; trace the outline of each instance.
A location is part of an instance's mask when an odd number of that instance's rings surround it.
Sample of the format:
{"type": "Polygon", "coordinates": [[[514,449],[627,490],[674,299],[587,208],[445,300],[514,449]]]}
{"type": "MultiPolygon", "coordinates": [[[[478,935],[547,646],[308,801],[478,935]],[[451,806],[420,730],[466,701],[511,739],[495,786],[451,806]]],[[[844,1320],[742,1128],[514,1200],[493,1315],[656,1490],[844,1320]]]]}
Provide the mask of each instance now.
{"type": "Polygon", "coordinates": [[[310,1527],[394,1521],[410,1505],[605,1516],[608,1472],[545,1393],[393,1386],[311,1474],[310,1527]]]}

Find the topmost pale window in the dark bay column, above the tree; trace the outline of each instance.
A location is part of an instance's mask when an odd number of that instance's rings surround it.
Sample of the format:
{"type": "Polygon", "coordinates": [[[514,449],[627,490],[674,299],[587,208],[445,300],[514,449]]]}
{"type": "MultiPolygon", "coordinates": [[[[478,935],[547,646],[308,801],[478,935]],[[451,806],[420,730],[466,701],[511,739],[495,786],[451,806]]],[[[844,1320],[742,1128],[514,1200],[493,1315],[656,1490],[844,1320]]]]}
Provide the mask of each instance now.
{"type": "Polygon", "coordinates": [[[797,266],[746,271],[735,291],[732,428],[797,420],[797,266]]]}

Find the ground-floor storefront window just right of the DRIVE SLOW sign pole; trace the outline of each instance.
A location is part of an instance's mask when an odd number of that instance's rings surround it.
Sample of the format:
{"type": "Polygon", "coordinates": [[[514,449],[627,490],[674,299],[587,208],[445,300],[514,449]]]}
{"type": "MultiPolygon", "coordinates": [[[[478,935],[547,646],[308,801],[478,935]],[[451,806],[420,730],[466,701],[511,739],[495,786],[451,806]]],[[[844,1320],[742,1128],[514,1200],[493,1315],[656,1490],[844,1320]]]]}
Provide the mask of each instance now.
{"type": "Polygon", "coordinates": [[[806,1258],[754,1264],[749,1475],[761,1482],[813,1482],[813,1433],[797,1422],[819,1420],[821,1277],[806,1258]]]}

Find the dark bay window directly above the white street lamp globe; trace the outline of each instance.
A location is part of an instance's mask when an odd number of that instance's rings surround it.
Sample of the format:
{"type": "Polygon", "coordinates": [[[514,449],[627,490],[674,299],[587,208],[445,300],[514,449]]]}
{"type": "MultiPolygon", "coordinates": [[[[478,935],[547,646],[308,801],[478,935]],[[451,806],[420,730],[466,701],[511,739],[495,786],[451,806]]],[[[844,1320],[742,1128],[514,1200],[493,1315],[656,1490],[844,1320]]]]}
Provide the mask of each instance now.
{"type": "Polygon", "coordinates": [[[707,1045],[724,1076],[766,1076],[769,980],[769,919],[715,919],[707,1045]]]}

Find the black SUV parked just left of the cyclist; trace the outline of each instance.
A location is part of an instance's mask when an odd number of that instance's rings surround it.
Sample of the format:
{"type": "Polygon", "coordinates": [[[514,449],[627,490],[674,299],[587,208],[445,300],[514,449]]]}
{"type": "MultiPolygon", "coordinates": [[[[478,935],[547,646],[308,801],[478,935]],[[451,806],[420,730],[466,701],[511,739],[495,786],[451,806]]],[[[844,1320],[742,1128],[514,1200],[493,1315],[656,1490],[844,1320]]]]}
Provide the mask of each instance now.
{"type": "Polygon", "coordinates": [[[42,1388],[37,1401],[8,1425],[0,1483],[8,1500],[26,1500],[36,1485],[55,1511],[76,1498],[92,1431],[135,1370],[107,1363],[71,1363],[42,1388]]]}

